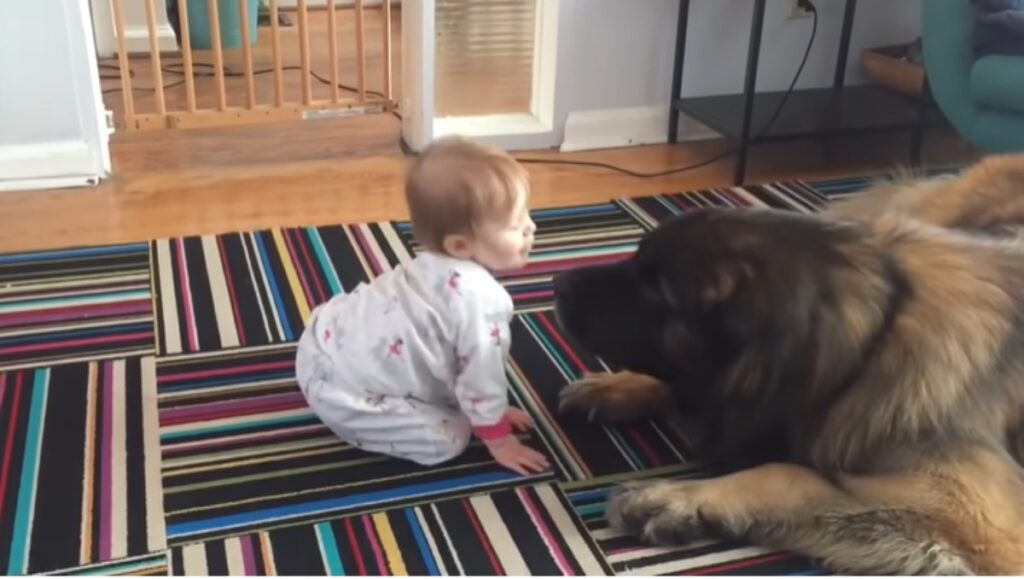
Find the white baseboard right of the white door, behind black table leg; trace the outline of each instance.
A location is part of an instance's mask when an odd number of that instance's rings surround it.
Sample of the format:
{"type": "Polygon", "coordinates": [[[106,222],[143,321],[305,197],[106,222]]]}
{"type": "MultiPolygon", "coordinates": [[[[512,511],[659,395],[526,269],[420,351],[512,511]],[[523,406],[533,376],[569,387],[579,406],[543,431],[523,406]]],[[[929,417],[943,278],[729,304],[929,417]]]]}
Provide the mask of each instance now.
{"type": "MultiPolygon", "coordinates": [[[[590,151],[668,141],[669,107],[635,107],[603,111],[577,111],[565,119],[561,151],[590,151]]],[[[716,138],[717,132],[680,116],[679,140],[716,138]]]]}

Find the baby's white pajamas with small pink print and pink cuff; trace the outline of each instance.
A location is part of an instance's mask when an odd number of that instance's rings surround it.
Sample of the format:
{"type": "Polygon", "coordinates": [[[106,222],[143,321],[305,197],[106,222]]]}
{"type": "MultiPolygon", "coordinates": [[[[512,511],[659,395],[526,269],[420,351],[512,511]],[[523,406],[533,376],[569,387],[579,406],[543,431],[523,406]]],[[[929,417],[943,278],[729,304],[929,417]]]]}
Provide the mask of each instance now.
{"type": "Polygon", "coordinates": [[[317,306],[299,340],[299,386],[362,449],[436,464],[470,437],[509,432],[512,298],[481,265],[424,252],[317,306]]]}

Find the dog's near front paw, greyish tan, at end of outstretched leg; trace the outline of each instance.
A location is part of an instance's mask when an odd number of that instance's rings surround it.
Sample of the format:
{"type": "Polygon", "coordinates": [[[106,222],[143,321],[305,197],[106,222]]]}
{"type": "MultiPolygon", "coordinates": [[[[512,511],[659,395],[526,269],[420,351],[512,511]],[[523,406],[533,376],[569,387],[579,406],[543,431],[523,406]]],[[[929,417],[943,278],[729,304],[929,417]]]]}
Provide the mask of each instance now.
{"type": "Polygon", "coordinates": [[[718,525],[701,508],[700,482],[631,483],[608,501],[608,524],[657,545],[688,543],[718,535],[718,525]]]}

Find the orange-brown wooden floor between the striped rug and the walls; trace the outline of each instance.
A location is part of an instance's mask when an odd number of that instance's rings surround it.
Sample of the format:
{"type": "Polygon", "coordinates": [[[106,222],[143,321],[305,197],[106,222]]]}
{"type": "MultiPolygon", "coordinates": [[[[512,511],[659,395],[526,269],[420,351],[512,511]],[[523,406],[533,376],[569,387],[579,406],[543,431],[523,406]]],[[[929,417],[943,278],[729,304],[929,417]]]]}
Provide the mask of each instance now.
{"type": "MultiPolygon", "coordinates": [[[[0,252],[143,241],[274,225],[403,218],[407,159],[390,116],[114,135],[114,175],[92,189],[0,195],[0,252]]],[[[751,182],[888,171],[907,157],[905,136],[756,148],[751,182]]],[[[519,157],[593,160],[658,171],[721,153],[722,142],[519,157]]],[[[963,164],[973,153],[946,133],[929,135],[927,162],[963,164]]],[[[640,179],[602,169],[528,165],[534,206],[727,185],[731,160],[640,179]]]]}

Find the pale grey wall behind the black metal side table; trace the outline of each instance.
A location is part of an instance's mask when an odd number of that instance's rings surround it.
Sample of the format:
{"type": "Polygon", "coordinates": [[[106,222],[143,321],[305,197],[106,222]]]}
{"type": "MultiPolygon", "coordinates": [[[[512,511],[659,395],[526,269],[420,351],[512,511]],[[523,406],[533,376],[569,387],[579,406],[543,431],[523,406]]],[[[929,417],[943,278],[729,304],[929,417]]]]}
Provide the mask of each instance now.
{"type": "MultiPolygon", "coordinates": [[[[847,82],[865,82],[865,47],[907,42],[920,30],[922,0],[860,0],[847,82]]],[[[830,86],[845,0],[814,0],[818,35],[798,87],[830,86]]],[[[691,0],[683,96],[741,92],[752,0],[691,0]]],[[[664,108],[672,86],[678,0],[561,0],[555,126],[570,113],[664,108]]],[[[788,19],[792,0],[768,0],[758,72],[759,90],[784,90],[811,32],[811,19],[788,19]]],[[[607,120],[607,114],[593,115],[607,120]]],[[[683,125],[681,138],[686,138],[683,125]]],[[[562,134],[548,144],[561,143],[562,134]]],[[[664,131],[663,131],[664,132],[664,131]]]]}

